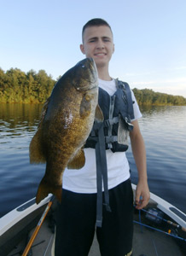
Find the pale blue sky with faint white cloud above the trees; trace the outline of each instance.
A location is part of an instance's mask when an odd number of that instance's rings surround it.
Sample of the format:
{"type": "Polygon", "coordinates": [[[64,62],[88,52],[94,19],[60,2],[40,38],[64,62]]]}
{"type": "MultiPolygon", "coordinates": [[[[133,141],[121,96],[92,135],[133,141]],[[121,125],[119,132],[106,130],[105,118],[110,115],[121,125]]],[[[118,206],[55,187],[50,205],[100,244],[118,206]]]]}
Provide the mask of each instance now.
{"type": "Polygon", "coordinates": [[[84,59],[84,24],[107,20],[109,73],[131,85],[186,97],[186,0],[0,0],[0,67],[53,79],[84,59]]]}

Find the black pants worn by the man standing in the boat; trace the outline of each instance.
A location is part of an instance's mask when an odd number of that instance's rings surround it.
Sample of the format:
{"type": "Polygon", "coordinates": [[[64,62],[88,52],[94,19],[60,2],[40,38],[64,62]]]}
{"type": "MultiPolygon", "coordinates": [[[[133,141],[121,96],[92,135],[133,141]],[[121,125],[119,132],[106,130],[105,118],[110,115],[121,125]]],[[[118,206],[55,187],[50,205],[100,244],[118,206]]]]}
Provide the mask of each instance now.
{"type": "MultiPolygon", "coordinates": [[[[96,229],[102,256],[131,252],[133,194],[131,180],[109,190],[110,207],[103,205],[102,228],[96,229]]],[[[56,221],[55,256],[87,256],[95,235],[96,194],[78,194],[63,189],[56,221]]]]}

